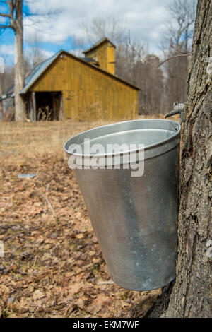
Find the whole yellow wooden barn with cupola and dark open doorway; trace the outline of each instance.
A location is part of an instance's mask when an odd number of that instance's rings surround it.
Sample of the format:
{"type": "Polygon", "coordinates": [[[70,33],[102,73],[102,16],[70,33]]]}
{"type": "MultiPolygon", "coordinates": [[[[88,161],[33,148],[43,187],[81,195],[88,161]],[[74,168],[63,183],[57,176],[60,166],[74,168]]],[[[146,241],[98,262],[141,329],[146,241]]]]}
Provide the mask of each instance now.
{"type": "Polygon", "coordinates": [[[115,76],[115,46],[106,37],[84,58],[61,50],[25,78],[20,95],[28,117],[40,119],[134,119],[139,88],[115,76]]]}

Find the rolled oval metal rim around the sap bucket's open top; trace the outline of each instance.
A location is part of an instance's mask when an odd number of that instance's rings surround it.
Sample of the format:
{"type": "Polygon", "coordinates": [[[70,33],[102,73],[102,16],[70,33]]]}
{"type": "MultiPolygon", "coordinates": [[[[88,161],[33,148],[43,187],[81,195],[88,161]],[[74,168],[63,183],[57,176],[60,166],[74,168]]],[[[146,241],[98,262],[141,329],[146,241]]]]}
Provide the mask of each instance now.
{"type": "Polygon", "coordinates": [[[119,122],[114,122],[113,124],[104,124],[102,126],[95,126],[92,129],[88,129],[86,131],[81,131],[81,133],[78,133],[74,136],[72,136],[71,138],[69,138],[65,143],[64,143],[64,151],[68,154],[68,155],[74,155],[76,157],[82,157],[82,158],[93,158],[93,157],[97,157],[97,158],[103,158],[103,157],[115,157],[117,155],[125,155],[125,154],[129,154],[130,153],[138,153],[141,150],[144,151],[148,151],[151,150],[152,148],[155,148],[157,146],[163,146],[165,143],[173,141],[180,133],[181,131],[181,125],[177,122],[177,121],[172,121],[170,119],[134,119],[134,120],[126,120],[126,121],[119,121],[119,122]],[[139,122],[145,122],[145,121],[166,121],[166,122],[170,122],[173,124],[176,132],[173,131],[173,135],[163,139],[162,141],[158,141],[156,143],[153,144],[149,144],[148,146],[146,146],[145,148],[141,149],[141,148],[136,148],[134,150],[126,150],[123,152],[115,152],[115,153],[103,153],[103,154],[91,154],[91,153],[73,153],[69,150],[66,149],[66,144],[69,143],[69,141],[73,140],[74,138],[77,138],[78,136],[81,136],[82,134],[86,134],[86,133],[90,133],[91,131],[94,131],[95,129],[100,129],[106,126],[114,126],[116,124],[124,124],[124,123],[130,123],[130,122],[135,122],[135,121],[139,121],[139,122]]]}

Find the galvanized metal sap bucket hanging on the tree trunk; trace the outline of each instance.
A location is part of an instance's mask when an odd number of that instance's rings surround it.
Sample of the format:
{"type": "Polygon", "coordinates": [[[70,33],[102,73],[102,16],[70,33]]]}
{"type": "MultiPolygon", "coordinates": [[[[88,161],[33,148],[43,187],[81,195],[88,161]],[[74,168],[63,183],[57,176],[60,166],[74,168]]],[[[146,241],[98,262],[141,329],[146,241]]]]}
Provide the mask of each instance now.
{"type": "MultiPolygon", "coordinates": [[[[93,169],[86,162],[94,155],[83,150],[82,167],[74,170],[108,271],[126,289],[153,290],[175,278],[179,135],[180,125],[175,121],[141,119],[100,126],[64,144],[68,157],[79,155],[70,146],[82,147],[85,138],[91,146],[144,144],[140,177],[132,177],[124,162],[116,168],[115,153],[112,168],[93,169]]],[[[139,155],[139,149],[135,152],[139,155]]]]}

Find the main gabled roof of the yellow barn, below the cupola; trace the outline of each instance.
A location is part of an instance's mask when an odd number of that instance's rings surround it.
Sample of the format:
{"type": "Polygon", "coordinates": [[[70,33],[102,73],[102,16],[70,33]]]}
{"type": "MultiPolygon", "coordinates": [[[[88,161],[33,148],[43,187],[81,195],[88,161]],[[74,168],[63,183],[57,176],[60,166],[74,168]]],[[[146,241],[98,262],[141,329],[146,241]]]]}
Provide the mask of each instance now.
{"type": "Polygon", "coordinates": [[[90,63],[90,61],[88,61],[88,58],[85,58],[85,59],[79,58],[79,57],[76,57],[75,55],[68,53],[68,52],[64,51],[63,49],[61,49],[59,52],[54,54],[52,57],[50,57],[49,59],[47,59],[45,61],[42,61],[40,64],[37,64],[37,66],[35,66],[33,68],[33,70],[28,74],[28,76],[25,77],[25,86],[22,90],[20,90],[20,92],[19,92],[20,95],[27,93],[29,88],[35,83],[35,81],[37,81],[38,78],[40,78],[42,73],[44,73],[47,70],[47,68],[62,54],[65,54],[69,57],[72,57],[73,59],[81,61],[81,62],[83,62],[83,64],[86,64],[87,66],[92,66],[93,69],[95,69],[97,71],[102,71],[102,73],[105,73],[105,75],[110,76],[117,81],[121,81],[122,83],[125,83],[136,90],[141,90],[141,88],[139,88],[138,86],[133,85],[133,84],[123,80],[122,78],[114,76],[111,73],[108,73],[107,71],[100,69],[97,66],[94,66],[93,64],[90,63]]]}

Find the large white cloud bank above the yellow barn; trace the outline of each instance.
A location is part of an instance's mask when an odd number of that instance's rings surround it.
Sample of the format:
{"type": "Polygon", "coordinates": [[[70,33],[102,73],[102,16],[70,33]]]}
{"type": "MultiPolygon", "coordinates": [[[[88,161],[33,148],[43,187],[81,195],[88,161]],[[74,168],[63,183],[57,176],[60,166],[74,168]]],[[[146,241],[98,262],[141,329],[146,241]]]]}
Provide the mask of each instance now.
{"type": "Polygon", "coordinates": [[[39,0],[28,3],[30,10],[37,13],[45,13],[51,9],[64,8],[52,20],[43,18],[42,22],[32,25],[25,18],[25,38],[35,34],[35,29],[42,33],[43,42],[61,44],[71,36],[83,37],[80,23],[88,24],[93,17],[114,16],[127,20],[131,37],[139,40],[145,37],[150,47],[154,47],[163,30],[165,19],[165,7],[170,0],[39,0]]]}

